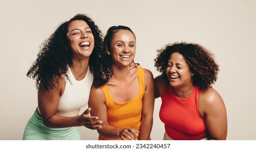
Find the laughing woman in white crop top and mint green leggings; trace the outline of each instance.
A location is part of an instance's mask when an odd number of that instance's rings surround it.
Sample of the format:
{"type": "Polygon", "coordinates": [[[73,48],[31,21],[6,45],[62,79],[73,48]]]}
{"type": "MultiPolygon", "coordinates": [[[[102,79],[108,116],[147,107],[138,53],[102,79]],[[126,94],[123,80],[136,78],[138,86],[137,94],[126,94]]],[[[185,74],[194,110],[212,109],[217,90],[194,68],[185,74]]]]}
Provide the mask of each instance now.
{"type": "Polygon", "coordinates": [[[47,39],[27,73],[36,80],[38,106],[25,127],[23,140],[80,140],[79,126],[101,128],[87,105],[99,71],[103,34],[93,20],[78,14],[47,39]]]}

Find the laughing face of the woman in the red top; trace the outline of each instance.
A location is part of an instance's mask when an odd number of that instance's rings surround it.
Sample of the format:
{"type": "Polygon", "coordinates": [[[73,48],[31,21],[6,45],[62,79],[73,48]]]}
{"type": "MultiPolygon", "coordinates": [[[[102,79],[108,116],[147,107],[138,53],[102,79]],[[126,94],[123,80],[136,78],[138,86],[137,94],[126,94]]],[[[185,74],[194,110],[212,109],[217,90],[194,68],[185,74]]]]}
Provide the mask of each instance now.
{"type": "Polygon", "coordinates": [[[171,54],[167,68],[167,77],[172,87],[183,87],[193,84],[192,77],[194,74],[190,71],[188,63],[182,54],[174,52],[171,54]]]}

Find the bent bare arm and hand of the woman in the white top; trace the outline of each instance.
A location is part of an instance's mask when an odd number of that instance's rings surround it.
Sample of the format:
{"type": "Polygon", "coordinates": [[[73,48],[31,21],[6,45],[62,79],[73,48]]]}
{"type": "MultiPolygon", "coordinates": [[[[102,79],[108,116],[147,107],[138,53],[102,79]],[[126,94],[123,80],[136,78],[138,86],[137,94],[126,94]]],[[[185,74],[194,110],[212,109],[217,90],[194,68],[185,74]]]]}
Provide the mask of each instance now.
{"type": "Polygon", "coordinates": [[[52,128],[63,128],[63,127],[74,127],[74,126],[85,126],[91,129],[98,129],[101,126],[98,121],[98,117],[89,115],[91,109],[87,109],[83,114],[78,116],[61,116],[57,115],[57,107],[59,105],[60,96],[65,88],[65,81],[60,80],[59,88],[55,87],[49,92],[43,87],[39,88],[38,91],[38,104],[41,113],[41,118],[44,125],[52,128]]]}

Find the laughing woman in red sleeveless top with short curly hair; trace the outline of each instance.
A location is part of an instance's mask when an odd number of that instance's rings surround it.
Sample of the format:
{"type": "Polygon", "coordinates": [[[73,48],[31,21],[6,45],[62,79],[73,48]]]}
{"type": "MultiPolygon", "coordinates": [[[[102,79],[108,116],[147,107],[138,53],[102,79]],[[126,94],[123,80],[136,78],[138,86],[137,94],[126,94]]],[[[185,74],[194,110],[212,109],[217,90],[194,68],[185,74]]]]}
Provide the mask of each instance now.
{"type": "Polygon", "coordinates": [[[162,98],[159,117],[164,140],[226,140],[225,104],[212,85],[219,66],[198,44],[174,43],[155,58],[155,98],[162,98]]]}

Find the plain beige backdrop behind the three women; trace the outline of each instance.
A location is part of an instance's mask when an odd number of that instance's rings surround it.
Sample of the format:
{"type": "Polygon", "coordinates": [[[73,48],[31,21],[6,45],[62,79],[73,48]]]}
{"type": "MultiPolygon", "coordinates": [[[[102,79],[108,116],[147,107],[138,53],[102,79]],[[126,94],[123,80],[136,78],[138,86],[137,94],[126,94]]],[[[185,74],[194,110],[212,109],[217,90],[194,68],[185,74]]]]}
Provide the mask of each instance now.
{"type": "MultiPolygon", "coordinates": [[[[256,140],[256,1],[34,1],[0,2],[0,140],[21,140],[37,106],[35,81],[26,73],[40,44],[76,13],[86,13],[106,33],[129,26],[137,36],[135,61],[156,77],[153,59],[165,44],[199,43],[220,65],[214,88],[225,101],[229,140],[256,140]]],[[[152,140],[162,140],[156,99],[152,140]]],[[[84,111],[84,109],[82,109],[84,111]]],[[[83,140],[97,131],[80,127],[83,140]]]]}

